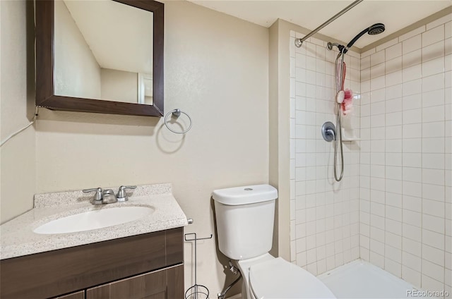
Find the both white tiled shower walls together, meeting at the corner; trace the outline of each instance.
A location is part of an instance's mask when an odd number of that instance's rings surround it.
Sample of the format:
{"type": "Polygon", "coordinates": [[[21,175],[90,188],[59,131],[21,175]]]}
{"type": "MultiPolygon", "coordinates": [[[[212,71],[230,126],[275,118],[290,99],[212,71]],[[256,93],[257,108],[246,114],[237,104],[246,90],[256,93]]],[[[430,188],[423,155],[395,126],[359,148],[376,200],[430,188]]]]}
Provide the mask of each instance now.
{"type": "Polygon", "coordinates": [[[361,257],[452,293],[451,32],[449,15],[346,56],[356,99],[345,126],[361,141],[344,143],[341,183],[320,135],[324,121],[335,123],[337,52],[313,38],[296,48],[292,32],[292,262],[321,274],[361,257]]]}

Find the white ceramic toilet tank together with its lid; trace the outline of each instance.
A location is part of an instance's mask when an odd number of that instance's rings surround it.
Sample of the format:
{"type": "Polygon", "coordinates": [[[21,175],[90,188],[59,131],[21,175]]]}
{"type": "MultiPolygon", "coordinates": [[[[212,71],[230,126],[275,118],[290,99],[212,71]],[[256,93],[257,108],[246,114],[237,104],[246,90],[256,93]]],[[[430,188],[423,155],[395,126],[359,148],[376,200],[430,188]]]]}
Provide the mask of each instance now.
{"type": "Polygon", "coordinates": [[[218,247],[232,260],[245,260],[270,251],[275,200],[270,185],[214,190],[218,247]]]}

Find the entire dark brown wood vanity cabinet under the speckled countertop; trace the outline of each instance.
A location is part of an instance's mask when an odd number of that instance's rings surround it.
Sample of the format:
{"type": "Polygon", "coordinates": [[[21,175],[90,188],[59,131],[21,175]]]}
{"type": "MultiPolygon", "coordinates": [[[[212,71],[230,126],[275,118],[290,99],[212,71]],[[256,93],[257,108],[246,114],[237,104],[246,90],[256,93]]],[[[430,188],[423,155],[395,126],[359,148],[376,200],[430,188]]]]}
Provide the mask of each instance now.
{"type": "Polygon", "coordinates": [[[1,260],[1,298],[183,298],[183,228],[1,260]]]}

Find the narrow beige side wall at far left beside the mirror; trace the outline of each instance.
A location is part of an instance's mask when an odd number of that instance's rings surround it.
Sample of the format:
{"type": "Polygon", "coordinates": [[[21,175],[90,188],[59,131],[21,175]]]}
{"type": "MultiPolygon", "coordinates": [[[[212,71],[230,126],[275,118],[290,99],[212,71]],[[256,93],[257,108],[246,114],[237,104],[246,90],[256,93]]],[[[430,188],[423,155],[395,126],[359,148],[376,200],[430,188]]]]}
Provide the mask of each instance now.
{"type": "MultiPolygon", "coordinates": [[[[27,69],[34,67],[34,54],[29,51],[33,43],[32,5],[27,5],[27,1],[0,1],[0,12],[0,139],[3,141],[30,122],[35,92],[33,73],[27,73],[27,69]]],[[[32,208],[35,128],[31,126],[0,148],[0,168],[0,222],[3,223],[32,208]]]]}

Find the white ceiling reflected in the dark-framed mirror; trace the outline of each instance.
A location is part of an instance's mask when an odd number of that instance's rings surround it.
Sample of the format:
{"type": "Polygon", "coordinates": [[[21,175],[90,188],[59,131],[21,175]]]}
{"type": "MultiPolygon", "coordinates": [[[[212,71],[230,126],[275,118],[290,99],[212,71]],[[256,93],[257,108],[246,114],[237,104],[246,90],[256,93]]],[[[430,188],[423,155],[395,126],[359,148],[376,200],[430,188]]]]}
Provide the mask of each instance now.
{"type": "Polygon", "coordinates": [[[101,68],[153,73],[153,13],[115,1],[64,4],[101,68]]]}

